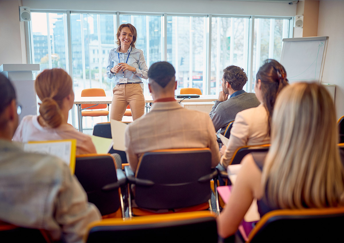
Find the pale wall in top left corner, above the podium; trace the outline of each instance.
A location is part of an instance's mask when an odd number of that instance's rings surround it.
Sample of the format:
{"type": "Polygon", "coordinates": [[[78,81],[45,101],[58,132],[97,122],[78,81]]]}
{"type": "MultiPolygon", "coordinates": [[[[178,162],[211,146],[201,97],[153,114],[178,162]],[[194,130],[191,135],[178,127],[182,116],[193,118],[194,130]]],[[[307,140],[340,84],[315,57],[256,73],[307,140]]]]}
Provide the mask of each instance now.
{"type": "Polygon", "coordinates": [[[21,0],[0,0],[0,65],[26,62],[24,22],[19,21],[21,0]]]}

